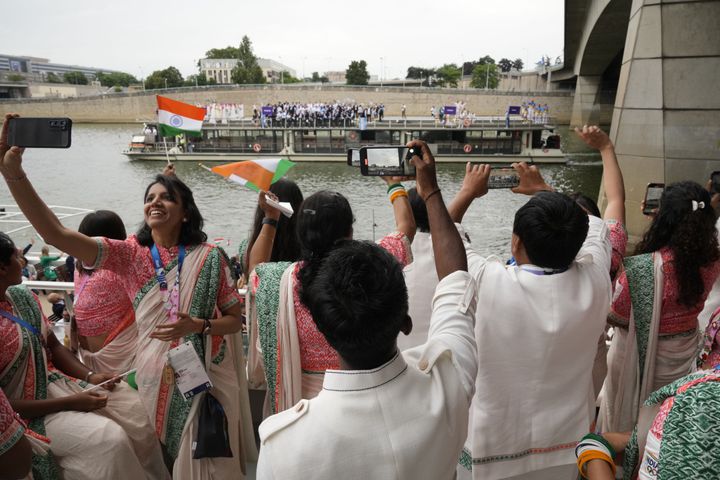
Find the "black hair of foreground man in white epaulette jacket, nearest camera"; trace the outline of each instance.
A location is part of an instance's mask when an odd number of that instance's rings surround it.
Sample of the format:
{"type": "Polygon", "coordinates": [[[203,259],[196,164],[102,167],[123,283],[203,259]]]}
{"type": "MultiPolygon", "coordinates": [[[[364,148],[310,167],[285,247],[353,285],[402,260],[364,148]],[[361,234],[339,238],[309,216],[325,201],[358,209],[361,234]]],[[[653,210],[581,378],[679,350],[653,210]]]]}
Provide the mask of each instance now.
{"type": "Polygon", "coordinates": [[[358,369],[375,368],[397,350],[408,296],[400,263],[370,242],[345,240],[321,262],[300,299],[320,333],[358,369]]]}

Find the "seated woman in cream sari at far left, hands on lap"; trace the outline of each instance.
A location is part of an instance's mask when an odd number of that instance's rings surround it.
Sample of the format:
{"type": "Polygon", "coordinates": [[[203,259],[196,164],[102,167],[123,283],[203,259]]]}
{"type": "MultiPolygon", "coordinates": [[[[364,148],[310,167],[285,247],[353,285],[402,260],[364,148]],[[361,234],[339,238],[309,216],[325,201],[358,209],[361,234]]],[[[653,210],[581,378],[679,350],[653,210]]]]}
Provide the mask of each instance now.
{"type": "Polygon", "coordinates": [[[112,392],[84,391],[113,375],[93,372],[58,342],[20,283],[18,250],[0,233],[0,387],[30,429],[50,439],[49,452],[34,449],[34,477],[167,478],[137,392],[112,383],[112,392]]]}

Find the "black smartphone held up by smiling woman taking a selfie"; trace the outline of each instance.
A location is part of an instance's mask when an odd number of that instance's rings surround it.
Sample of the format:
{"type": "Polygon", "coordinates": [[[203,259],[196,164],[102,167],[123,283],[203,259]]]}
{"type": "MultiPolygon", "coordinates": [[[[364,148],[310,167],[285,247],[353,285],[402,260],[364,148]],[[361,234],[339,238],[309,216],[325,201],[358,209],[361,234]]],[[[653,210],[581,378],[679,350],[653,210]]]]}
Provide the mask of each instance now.
{"type": "Polygon", "coordinates": [[[13,147],[69,148],[72,120],[69,118],[11,118],[8,143],[13,147]]]}

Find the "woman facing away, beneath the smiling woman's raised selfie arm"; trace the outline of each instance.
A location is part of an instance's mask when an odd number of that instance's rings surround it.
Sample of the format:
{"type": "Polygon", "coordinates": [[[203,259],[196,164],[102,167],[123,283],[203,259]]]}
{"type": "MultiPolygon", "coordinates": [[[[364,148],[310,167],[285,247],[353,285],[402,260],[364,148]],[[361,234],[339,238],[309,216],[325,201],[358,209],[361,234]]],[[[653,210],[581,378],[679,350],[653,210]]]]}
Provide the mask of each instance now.
{"type": "MultiPolygon", "coordinates": [[[[78,231],[88,237],[127,238],[122,220],[109,210],[86,215],[78,231]]],[[[95,371],[128,371],[135,359],[137,328],[132,302],[118,289],[122,279],[109,269],[88,270],[80,263],[76,267],[73,332],[80,358],[95,371]]]]}

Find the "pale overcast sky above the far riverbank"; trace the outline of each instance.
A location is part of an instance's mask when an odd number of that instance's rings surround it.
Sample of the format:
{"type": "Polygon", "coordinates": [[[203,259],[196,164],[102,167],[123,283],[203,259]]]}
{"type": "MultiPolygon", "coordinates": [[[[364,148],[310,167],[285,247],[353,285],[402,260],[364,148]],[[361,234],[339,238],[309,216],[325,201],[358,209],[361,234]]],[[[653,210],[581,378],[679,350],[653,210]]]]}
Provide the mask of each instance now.
{"type": "Polygon", "coordinates": [[[298,76],[365,60],[370,75],[404,78],[490,55],[562,55],[564,0],[4,0],[0,54],[48,58],[146,77],[197,73],[207,50],[250,37],[255,55],[298,76]],[[12,5],[8,8],[8,5],[12,5]]]}

